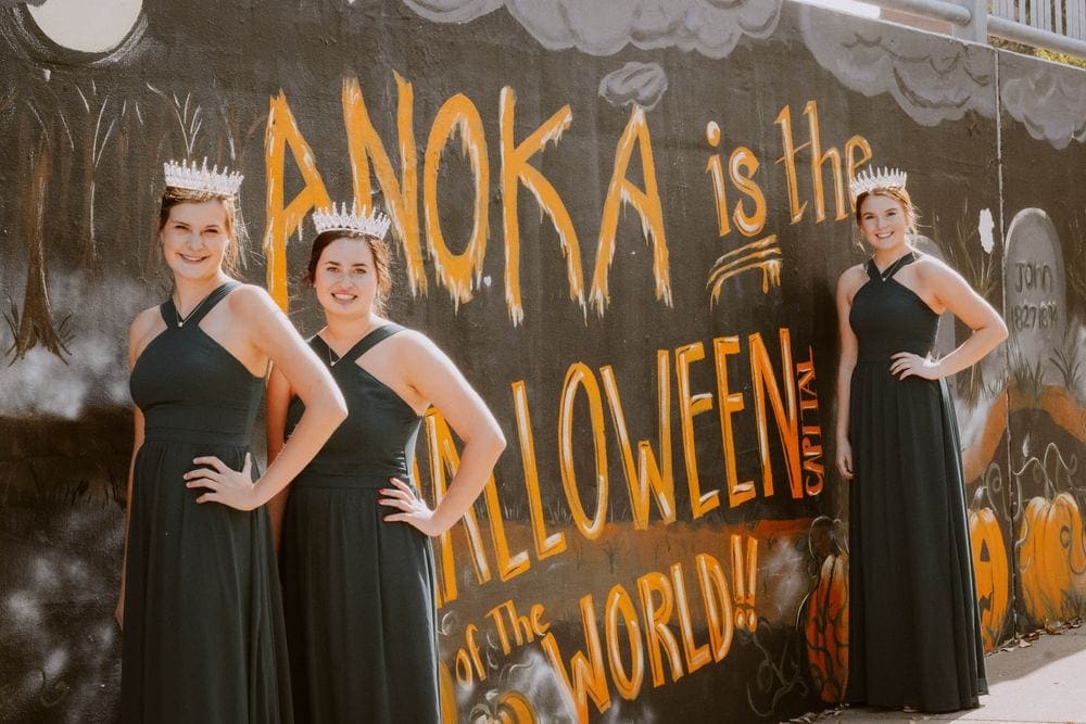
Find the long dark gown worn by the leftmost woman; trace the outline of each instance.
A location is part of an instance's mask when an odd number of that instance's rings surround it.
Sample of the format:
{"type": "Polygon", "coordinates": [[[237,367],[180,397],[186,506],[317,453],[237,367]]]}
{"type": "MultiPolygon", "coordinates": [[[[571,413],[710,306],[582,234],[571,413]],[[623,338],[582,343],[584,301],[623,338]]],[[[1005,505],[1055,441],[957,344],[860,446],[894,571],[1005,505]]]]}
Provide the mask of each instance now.
{"type": "MultiPolygon", "coordinates": [[[[201,328],[238,284],[212,292],[166,329],[132,368],[144,419],[132,477],[122,719],[266,724],[292,721],[289,663],[267,512],[199,504],[192,459],[235,470],[249,452],[263,381],[201,328]]],[[[254,472],[255,475],[255,472],[254,472]]]]}

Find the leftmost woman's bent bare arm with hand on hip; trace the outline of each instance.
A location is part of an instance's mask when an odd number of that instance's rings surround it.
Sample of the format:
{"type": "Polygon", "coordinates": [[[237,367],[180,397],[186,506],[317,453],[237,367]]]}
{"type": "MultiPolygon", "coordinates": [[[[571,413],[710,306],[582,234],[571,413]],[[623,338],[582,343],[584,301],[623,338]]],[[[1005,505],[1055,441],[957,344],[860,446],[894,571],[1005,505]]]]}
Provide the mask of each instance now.
{"type": "Polygon", "coordinates": [[[230,295],[233,308],[250,339],[279,369],[291,389],[305,403],[305,414],[290,441],[270,460],[267,470],[254,484],[248,480],[252,462],[247,460],[241,474],[216,457],[201,457],[195,465],[211,466],[185,473],[188,487],[209,492],[198,503],[222,503],[238,510],[252,510],[274,498],[290,484],[346,418],[346,403],[327,368],[320,364],[287,316],[257,287],[243,287],[230,295]]]}

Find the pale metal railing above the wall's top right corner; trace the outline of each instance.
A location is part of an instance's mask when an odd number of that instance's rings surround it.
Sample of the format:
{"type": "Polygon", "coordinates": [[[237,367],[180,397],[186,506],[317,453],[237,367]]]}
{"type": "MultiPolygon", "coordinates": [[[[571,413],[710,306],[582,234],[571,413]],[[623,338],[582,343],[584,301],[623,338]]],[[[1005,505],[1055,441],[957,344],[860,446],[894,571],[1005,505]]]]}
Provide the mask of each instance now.
{"type": "Polygon", "coordinates": [[[950,23],[956,35],[987,42],[993,35],[1086,58],[1086,0],[862,0],[950,23]]]}

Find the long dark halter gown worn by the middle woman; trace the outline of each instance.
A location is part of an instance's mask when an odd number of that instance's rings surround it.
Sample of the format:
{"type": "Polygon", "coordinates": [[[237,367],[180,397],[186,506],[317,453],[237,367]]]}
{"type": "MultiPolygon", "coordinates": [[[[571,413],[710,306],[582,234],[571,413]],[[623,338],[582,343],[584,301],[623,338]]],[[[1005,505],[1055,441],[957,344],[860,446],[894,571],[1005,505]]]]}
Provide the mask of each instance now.
{"type": "MultiPolygon", "coordinates": [[[[386,522],[389,478],[412,484],[420,418],[356,364],[401,331],[386,325],[329,366],[349,410],[294,479],[283,513],[280,576],[299,722],[440,721],[434,561],[429,538],[386,522]]],[[[287,430],[304,406],[291,401],[287,430]]]]}

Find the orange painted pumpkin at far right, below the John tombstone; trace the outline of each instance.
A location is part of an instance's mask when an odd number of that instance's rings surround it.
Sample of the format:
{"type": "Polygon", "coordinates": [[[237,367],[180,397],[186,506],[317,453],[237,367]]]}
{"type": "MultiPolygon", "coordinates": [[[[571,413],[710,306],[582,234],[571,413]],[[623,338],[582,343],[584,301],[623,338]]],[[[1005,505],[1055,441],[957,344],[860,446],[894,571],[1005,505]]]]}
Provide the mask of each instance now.
{"type": "Polygon", "coordinates": [[[1086,573],[1083,518],[1075,499],[1030,500],[1019,529],[1019,571],[1026,614],[1036,623],[1079,615],[1077,579],[1086,573]]]}

